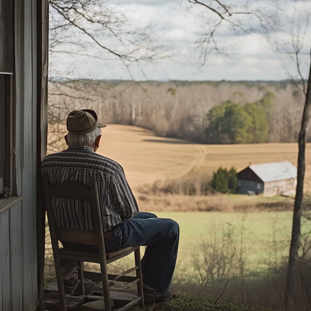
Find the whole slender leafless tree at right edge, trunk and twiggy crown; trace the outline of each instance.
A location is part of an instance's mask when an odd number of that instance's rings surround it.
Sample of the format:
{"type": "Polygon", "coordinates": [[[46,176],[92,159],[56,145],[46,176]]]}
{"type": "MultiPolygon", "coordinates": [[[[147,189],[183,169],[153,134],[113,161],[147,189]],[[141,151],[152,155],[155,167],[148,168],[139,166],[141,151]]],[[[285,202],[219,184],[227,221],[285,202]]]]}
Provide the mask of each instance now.
{"type": "Polygon", "coordinates": [[[283,31],[288,30],[288,37],[276,43],[277,51],[289,58],[296,68],[293,75],[290,63],[286,63],[286,71],[293,84],[304,94],[304,110],[298,137],[298,168],[297,188],[293,213],[292,236],[285,290],[285,308],[290,310],[294,305],[295,295],[295,268],[298,261],[298,251],[301,237],[301,216],[304,203],[304,176],[305,176],[305,149],[306,134],[311,110],[311,10],[308,1],[293,2],[293,11],[289,20],[286,20],[283,31]],[[286,28],[287,26],[287,28],[286,28]],[[307,56],[307,57],[306,57],[307,56]],[[305,63],[304,63],[305,62],[305,63]],[[309,63],[309,72],[306,72],[309,63]],[[304,70],[304,72],[303,72],[304,70]],[[308,75],[308,80],[305,77],[308,75]],[[299,79],[297,79],[297,77],[299,79]],[[300,80],[300,81],[299,81],[300,80]]]}

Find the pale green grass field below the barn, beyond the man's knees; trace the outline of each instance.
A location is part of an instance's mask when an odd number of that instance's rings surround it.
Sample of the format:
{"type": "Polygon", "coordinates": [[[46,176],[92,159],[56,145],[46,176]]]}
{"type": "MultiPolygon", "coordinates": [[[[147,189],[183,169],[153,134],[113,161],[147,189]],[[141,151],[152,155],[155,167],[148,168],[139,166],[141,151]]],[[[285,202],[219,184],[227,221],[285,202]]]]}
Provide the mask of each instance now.
{"type": "MultiPolygon", "coordinates": [[[[215,237],[220,239],[229,224],[237,247],[240,248],[242,245],[248,271],[259,272],[271,263],[279,263],[288,256],[292,212],[156,212],[156,214],[158,217],[171,218],[179,223],[180,241],[176,276],[184,274],[185,271],[191,274],[192,254],[198,245],[215,237]]],[[[303,222],[302,232],[310,229],[310,224],[303,222]]],[[[144,248],[142,255],[143,251],[144,248]]],[[[131,267],[132,260],[131,256],[122,258],[118,263],[110,264],[109,268],[114,271],[115,265],[131,267]]]]}

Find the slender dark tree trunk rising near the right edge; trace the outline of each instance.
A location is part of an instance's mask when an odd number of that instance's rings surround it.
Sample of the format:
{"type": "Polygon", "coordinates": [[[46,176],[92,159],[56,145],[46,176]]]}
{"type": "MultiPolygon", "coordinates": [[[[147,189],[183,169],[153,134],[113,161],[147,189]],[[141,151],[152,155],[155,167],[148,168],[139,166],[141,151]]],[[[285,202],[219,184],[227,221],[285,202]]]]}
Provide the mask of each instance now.
{"type": "MultiPolygon", "coordinates": [[[[311,55],[310,55],[311,56],[311,55]]],[[[295,206],[293,214],[293,228],[290,242],[290,254],[287,271],[287,284],[285,290],[285,308],[292,308],[294,304],[293,298],[295,294],[295,267],[298,259],[299,239],[300,239],[300,223],[303,209],[304,196],[304,171],[305,171],[305,148],[306,148],[306,130],[310,118],[311,108],[311,63],[309,71],[309,80],[306,99],[304,103],[304,112],[301,121],[301,129],[298,138],[298,168],[297,168],[297,188],[295,197],[295,206]]]]}

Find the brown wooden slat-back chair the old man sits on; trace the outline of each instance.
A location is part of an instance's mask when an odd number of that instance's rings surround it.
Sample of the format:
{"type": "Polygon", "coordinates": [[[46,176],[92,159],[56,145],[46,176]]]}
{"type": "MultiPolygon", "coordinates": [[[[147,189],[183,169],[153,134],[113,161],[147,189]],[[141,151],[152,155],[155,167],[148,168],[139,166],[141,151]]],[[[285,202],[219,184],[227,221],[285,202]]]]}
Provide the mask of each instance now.
{"type": "Polygon", "coordinates": [[[120,250],[113,253],[105,252],[103,228],[100,213],[99,194],[96,181],[91,181],[91,188],[84,187],[81,183],[65,181],[57,185],[49,184],[48,178],[45,174],[42,175],[43,191],[45,207],[48,214],[49,229],[51,235],[53,257],[55,272],[57,278],[58,294],[59,294],[59,305],[61,311],[67,311],[66,296],[63,283],[62,267],[60,259],[70,259],[78,262],[78,286],[80,294],[84,295],[84,281],[83,275],[95,276],[97,280],[103,283],[103,294],[104,294],[104,305],[105,311],[111,311],[110,304],[110,293],[108,280],[114,280],[116,277],[118,281],[124,280],[129,283],[137,283],[138,297],[123,306],[120,310],[127,310],[132,306],[139,304],[141,308],[144,307],[144,296],[142,286],[142,267],[140,260],[140,247],[127,247],[121,248],[120,250]],[[57,227],[55,224],[53,209],[51,206],[51,197],[58,197],[64,199],[77,199],[84,201],[91,201],[93,209],[93,216],[95,220],[96,231],[84,231],[57,227]],[[59,248],[58,241],[80,243],[97,246],[99,249],[98,253],[77,251],[69,248],[59,248]],[[107,264],[114,262],[120,258],[127,256],[134,252],[135,255],[135,267],[124,272],[120,276],[108,275],[107,264]],[[100,273],[83,271],[84,262],[95,262],[100,264],[100,273]],[[123,276],[126,273],[136,271],[136,277],[134,276],[123,276]],[[99,277],[100,276],[100,277],[99,277]]]}

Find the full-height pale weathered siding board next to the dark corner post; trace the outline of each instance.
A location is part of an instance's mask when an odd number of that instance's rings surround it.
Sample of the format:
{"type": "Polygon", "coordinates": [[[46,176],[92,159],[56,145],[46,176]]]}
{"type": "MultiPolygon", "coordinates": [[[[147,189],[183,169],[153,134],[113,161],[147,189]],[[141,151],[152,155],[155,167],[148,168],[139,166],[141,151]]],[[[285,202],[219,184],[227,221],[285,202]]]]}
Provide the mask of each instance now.
{"type": "Polygon", "coordinates": [[[22,234],[23,234],[23,309],[35,310],[37,304],[37,7],[35,0],[24,2],[24,100],[20,109],[23,124],[22,234]]]}

